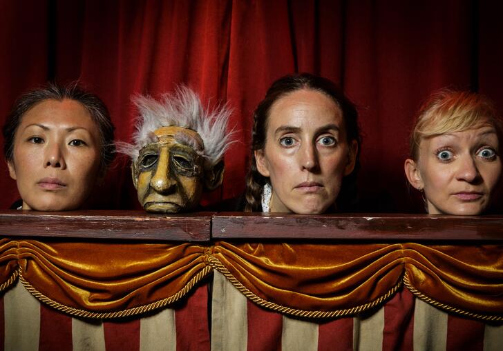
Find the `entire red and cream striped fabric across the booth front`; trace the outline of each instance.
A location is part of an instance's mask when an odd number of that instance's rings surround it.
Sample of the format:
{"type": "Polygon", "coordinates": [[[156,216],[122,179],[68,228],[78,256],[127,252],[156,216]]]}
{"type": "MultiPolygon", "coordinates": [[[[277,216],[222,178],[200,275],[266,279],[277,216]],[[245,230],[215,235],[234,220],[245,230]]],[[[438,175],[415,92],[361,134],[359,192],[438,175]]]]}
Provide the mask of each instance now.
{"type": "Polygon", "coordinates": [[[503,326],[446,314],[401,290],[357,318],[313,323],[249,302],[215,272],[211,345],[207,285],[175,309],[128,321],[74,319],[41,305],[21,283],[0,299],[3,350],[503,350],[503,326]]]}

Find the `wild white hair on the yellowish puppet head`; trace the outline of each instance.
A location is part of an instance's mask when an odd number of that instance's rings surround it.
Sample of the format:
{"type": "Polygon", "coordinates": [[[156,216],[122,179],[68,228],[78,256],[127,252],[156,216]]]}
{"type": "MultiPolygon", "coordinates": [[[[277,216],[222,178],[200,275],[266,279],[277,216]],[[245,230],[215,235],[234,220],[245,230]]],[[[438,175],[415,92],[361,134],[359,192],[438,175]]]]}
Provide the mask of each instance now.
{"type": "Polygon", "coordinates": [[[196,131],[205,150],[199,152],[206,159],[207,166],[214,166],[222,159],[225,150],[232,143],[233,132],[226,132],[231,110],[220,106],[214,110],[203,108],[196,92],[180,86],[174,94],[163,94],[160,101],[152,97],[133,97],[139,116],[133,143],[118,143],[117,150],[136,161],[140,150],[157,141],[153,132],[165,126],[178,126],[196,131]]]}

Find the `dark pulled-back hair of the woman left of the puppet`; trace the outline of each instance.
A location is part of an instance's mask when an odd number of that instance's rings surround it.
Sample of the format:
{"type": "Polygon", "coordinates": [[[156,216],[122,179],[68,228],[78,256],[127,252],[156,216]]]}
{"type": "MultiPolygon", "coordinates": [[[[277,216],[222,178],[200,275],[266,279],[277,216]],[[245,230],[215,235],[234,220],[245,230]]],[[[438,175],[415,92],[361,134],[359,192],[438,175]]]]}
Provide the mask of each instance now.
{"type": "Polygon", "coordinates": [[[115,157],[115,144],[113,143],[113,131],[115,128],[108,109],[99,97],[80,88],[77,83],[70,83],[66,86],[48,83],[46,86],[22,94],[15,101],[3,126],[3,154],[6,161],[12,161],[14,156],[14,138],[24,114],[43,101],[63,101],[64,99],[75,100],[81,103],[89,114],[91,114],[91,118],[95,121],[99,130],[102,143],[100,168],[105,170],[110,165],[115,157]]]}

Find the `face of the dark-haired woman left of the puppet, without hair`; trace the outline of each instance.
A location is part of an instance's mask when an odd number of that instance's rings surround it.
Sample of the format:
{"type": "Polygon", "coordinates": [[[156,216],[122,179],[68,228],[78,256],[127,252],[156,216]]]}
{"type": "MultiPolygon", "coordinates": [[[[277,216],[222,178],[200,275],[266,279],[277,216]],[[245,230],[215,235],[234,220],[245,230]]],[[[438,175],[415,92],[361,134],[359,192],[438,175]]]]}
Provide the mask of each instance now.
{"type": "Polygon", "coordinates": [[[82,206],[99,176],[101,141],[91,114],[74,100],[46,100],[21,118],[10,177],[23,210],[63,211],[82,206]]]}

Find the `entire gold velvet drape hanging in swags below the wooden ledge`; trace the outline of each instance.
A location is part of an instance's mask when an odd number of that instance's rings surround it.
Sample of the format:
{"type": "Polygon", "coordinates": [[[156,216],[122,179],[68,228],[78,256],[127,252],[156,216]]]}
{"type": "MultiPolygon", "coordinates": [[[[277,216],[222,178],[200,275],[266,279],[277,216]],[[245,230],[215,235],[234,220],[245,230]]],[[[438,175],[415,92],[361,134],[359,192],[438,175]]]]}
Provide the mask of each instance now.
{"type": "Polygon", "coordinates": [[[301,317],[354,314],[405,283],[439,308],[503,320],[502,245],[0,241],[2,290],[19,274],[37,299],[82,317],[169,305],[212,269],[255,303],[301,317]]]}

